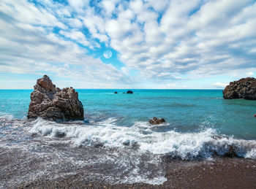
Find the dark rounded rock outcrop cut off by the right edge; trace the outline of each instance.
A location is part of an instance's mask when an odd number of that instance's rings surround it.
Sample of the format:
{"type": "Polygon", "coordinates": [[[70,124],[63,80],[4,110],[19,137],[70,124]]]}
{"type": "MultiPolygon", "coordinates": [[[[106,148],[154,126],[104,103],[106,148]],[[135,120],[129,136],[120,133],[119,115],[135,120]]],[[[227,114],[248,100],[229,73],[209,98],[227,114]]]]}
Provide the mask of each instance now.
{"type": "Polygon", "coordinates": [[[223,90],[223,98],[256,100],[256,79],[246,77],[230,82],[230,85],[223,90]]]}

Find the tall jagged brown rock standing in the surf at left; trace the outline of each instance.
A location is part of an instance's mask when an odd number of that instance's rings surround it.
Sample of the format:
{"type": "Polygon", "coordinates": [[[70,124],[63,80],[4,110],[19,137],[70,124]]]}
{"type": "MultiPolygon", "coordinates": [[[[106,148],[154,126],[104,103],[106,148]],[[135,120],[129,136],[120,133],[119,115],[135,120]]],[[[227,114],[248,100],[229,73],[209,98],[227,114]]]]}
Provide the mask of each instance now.
{"type": "Polygon", "coordinates": [[[73,88],[60,90],[47,75],[37,80],[30,95],[28,118],[83,120],[83,104],[73,88]]]}

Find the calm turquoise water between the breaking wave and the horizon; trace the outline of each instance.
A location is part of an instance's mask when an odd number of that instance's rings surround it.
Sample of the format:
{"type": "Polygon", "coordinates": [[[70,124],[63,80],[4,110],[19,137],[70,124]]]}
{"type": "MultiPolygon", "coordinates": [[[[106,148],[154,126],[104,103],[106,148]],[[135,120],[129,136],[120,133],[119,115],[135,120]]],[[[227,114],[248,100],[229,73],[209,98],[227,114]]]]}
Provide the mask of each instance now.
{"type": "MultiPolygon", "coordinates": [[[[32,90],[0,90],[0,116],[26,119],[32,90]]],[[[238,139],[256,139],[256,101],[225,100],[222,90],[78,90],[86,120],[118,117],[118,126],[133,126],[164,117],[159,131],[199,132],[214,128],[238,139]],[[114,94],[117,91],[118,94],[114,94]]]]}

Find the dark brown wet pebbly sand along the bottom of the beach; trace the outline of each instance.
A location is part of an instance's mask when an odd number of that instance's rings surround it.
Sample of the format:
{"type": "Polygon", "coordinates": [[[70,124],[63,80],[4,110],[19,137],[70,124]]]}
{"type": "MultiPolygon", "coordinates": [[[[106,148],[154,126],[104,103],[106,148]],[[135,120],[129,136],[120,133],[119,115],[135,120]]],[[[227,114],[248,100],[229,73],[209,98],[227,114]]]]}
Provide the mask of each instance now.
{"type": "Polygon", "coordinates": [[[214,161],[175,161],[165,163],[167,181],[162,185],[109,184],[88,180],[83,170],[72,176],[40,178],[18,188],[256,188],[256,160],[215,158],[214,161]]]}

